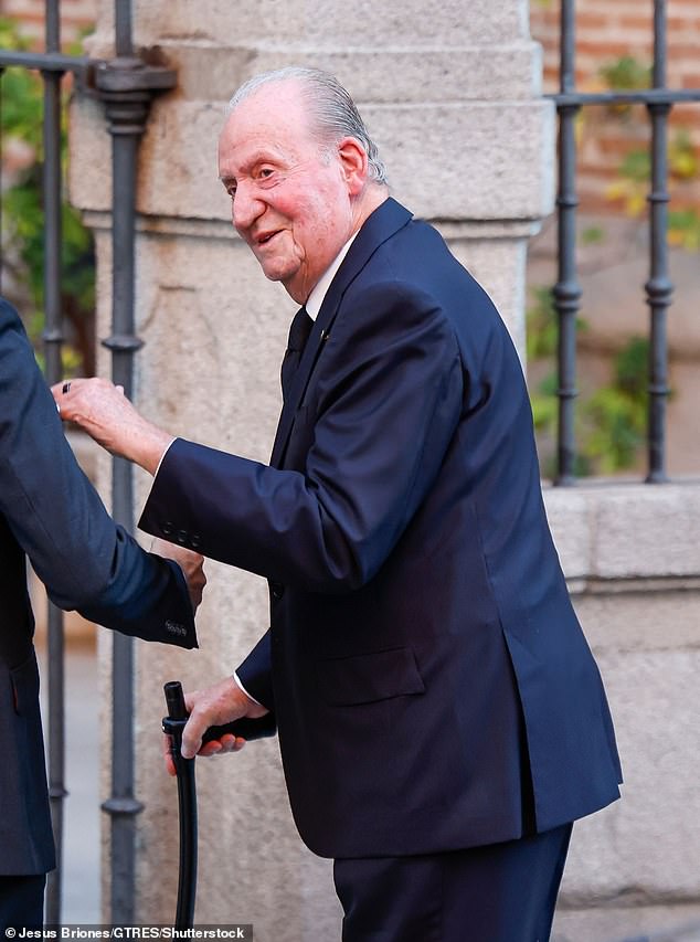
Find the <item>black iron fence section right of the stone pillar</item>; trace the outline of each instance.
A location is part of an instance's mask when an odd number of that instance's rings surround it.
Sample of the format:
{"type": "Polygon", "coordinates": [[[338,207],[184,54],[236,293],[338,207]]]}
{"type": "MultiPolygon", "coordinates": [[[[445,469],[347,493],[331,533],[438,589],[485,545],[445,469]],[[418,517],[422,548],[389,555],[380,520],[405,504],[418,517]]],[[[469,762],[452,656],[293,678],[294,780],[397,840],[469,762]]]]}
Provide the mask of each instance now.
{"type": "Polygon", "coordinates": [[[576,315],[581,303],[581,285],[576,272],[576,139],[575,120],[581,108],[592,105],[646,105],[651,124],[651,180],[649,203],[650,257],[649,277],[645,285],[650,309],[648,368],[648,469],[646,480],[667,480],[666,405],[668,401],[668,353],[666,316],[674,285],[668,269],[668,118],[679,102],[700,102],[700,88],[666,87],[667,42],[666,0],[654,0],[654,66],[651,86],[644,91],[619,91],[596,94],[576,92],[575,87],[575,0],[561,2],[560,92],[553,95],[559,114],[559,221],[558,279],[553,288],[559,318],[558,390],[559,426],[556,474],[554,483],[575,481],[575,399],[576,390],[576,315]]]}

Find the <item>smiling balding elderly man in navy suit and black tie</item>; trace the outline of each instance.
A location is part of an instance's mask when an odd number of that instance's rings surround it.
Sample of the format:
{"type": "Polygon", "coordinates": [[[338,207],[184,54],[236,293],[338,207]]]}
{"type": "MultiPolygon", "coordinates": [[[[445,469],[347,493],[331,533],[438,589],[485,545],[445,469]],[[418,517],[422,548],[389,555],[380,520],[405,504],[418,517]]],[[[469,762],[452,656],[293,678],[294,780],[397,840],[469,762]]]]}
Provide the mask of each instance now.
{"type": "Polygon", "coordinates": [[[274,712],[346,942],[543,942],[572,822],[618,797],[621,768],[518,354],[441,235],[389,197],[332,76],[252,80],[219,165],[237,232],[303,305],[269,465],[171,442],[104,381],[55,390],[158,468],[142,529],[269,582],[269,631],[188,696],[183,754],[212,723],[274,712]]]}

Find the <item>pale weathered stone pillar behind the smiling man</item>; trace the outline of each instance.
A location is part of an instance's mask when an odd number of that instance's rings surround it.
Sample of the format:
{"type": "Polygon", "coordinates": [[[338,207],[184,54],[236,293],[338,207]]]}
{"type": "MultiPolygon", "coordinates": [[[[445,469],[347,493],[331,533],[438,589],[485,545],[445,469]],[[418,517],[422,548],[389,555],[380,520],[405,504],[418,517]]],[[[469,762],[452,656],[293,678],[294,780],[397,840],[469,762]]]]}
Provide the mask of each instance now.
{"type": "MultiPolygon", "coordinates": [[[[136,44],[159,46],[177,89],[141,146],[135,399],[174,434],[266,461],[295,305],[235,236],[216,174],[225,104],[248,76],[287,64],[338,75],[388,165],[392,192],[434,221],[491,293],[520,349],[528,236],[551,210],[553,114],[539,97],[526,0],[135,0],[136,44]]],[[[113,52],[103,0],[91,54],[113,52]]],[[[73,110],[72,199],[97,233],[99,336],[109,332],[109,151],[99,106],[73,110]]],[[[99,371],[108,372],[103,353],[99,371]]],[[[139,500],[148,481],[139,477],[139,500]]],[[[162,684],[230,673],[267,626],[263,580],[219,564],[198,617],[201,648],[138,645],[137,912],[174,912],[174,783],[161,769],[162,684]]],[[[105,655],[106,657],[106,655],[105,655]]],[[[108,761],[108,753],[105,753],[108,761]]],[[[338,939],[330,864],[294,828],[275,741],[198,763],[199,923],[253,922],[258,942],[338,939]]],[[[351,813],[351,809],[349,811],[351,813]]]]}

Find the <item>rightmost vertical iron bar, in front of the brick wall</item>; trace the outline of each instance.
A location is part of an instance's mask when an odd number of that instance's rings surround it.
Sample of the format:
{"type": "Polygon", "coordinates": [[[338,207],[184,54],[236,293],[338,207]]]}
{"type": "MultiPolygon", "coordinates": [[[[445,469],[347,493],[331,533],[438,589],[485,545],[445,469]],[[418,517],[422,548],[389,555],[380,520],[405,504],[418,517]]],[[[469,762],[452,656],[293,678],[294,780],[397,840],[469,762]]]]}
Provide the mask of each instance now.
{"type": "MultiPolygon", "coordinates": [[[[666,87],[666,0],[654,2],[654,87],[666,87]]],[[[649,484],[668,480],[666,474],[666,403],[668,401],[668,352],[666,310],[674,285],[668,271],[668,161],[669,104],[649,104],[651,120],[651,190],[649,203],[649,281],[645,285],[650,309],[648,473],[649,484]]]]}

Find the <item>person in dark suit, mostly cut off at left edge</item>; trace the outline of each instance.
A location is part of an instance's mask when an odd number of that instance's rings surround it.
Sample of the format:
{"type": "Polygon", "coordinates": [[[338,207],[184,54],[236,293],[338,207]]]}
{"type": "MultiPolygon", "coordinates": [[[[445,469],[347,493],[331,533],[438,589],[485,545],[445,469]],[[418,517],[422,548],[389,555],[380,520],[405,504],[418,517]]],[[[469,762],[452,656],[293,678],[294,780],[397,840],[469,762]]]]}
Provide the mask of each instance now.
{"type": "Polygon", "coordinates": [[[65,440],[22,322],[0,298],[0,929],[41,927],[55,866],[26,558],[62,608],[197,647],[202,557],[168,546],[160,551],[179,564],[146,553],[108,517],[65,440]]]}

